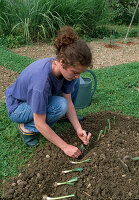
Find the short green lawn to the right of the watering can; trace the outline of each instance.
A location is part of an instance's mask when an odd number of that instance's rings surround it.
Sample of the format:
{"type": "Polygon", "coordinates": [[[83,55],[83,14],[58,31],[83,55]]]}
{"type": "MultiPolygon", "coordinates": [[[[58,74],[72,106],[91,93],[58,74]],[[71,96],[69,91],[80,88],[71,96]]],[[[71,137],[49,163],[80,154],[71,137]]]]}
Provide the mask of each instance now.
{"type": "MultiPolygon", "coordinates": [[[[139,63],[128,63],[94,70],[98,84],[92,104],[79,110],[78,114],[111,110],[139,118],[138,69],[139,63]]],[[[91,78],[89,73],[84,76],[91,78]]]]}

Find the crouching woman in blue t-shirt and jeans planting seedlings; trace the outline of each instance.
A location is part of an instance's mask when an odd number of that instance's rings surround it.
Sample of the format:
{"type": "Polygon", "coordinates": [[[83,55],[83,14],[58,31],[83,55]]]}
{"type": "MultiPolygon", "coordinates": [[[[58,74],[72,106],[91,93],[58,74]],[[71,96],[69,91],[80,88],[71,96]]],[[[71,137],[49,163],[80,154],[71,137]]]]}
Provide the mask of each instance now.
{"type": "Polygon", "coordinates": [[[66,155],[77,158],[81,151],[67,144],[51,127],[66,114],[77,136],[85,145],[89,143],[91,133],[87,135],[82,129],[74,106],[80,74],[91,64],[92,55],[69,26],[59,31],[54,46],[56,57],[35,61],[6,89],[6,106],[10,119],[18,123],[24,143],[38,145],[35,133],[40,132],[66,155]]]}

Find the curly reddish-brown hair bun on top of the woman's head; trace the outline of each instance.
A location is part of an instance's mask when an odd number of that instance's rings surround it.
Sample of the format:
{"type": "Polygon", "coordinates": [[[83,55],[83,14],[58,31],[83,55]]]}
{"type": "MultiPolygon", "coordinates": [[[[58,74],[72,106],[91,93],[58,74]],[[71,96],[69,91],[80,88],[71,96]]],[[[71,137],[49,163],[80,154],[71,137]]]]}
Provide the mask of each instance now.
{"type": "Polygon", "coordinates": [[[57,37],[54,40],[54,46],[56,47],[57,51],[59,51],[61,47],[72,44],[78,39],[79,38],[72,27],[64,26],[58,32],[57,37]]]}

